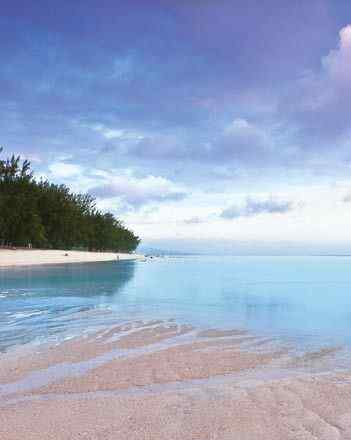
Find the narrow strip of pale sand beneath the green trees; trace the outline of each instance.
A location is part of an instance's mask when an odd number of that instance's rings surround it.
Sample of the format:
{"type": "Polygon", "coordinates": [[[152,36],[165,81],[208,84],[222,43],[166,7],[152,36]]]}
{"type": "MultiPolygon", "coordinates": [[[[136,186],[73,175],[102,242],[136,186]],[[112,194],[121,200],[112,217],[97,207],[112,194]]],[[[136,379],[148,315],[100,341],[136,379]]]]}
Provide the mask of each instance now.
{"type": "Polygon", "coordinates": [[[112,252],[0,249],[0,267],[17,267],[43,264],[92,263],[99,261],[137,260],[143,258],[144,257],[142,255],[138,254],[112,252]]]}

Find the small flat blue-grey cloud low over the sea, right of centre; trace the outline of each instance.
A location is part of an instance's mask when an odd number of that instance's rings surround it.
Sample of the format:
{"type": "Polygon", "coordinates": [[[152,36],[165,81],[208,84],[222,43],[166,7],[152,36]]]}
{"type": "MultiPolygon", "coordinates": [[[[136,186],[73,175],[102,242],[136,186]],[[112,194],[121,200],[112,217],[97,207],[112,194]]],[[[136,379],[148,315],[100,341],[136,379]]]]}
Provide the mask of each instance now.
{"type": "Polygon", "coordinates": [[[247,198],[243,206],[231,205],[224,209],[220,217],[224,219],[235,219],[239,217],[255,217],[260,214],[285,214],[293,209],[290,201],[277,201],[274,199],[255,200],[247,198]]]}

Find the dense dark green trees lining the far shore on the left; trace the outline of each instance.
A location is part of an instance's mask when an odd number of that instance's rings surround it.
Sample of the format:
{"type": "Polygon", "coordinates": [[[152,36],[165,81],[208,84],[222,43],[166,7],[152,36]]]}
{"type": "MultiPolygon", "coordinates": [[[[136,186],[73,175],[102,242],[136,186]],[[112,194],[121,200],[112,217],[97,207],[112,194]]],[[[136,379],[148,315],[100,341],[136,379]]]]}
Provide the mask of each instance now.
{"type": "Polygon", "coordinates": [[[0,159],[0,244],[131,252],[139,242],[113,214],[97,209],[91,195],[38,181],[20,156],[0,159]]]}

